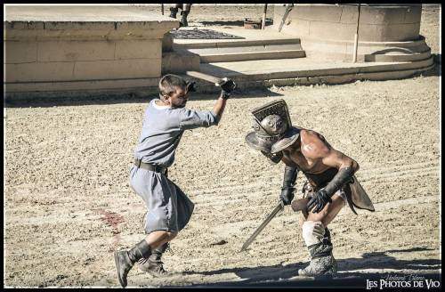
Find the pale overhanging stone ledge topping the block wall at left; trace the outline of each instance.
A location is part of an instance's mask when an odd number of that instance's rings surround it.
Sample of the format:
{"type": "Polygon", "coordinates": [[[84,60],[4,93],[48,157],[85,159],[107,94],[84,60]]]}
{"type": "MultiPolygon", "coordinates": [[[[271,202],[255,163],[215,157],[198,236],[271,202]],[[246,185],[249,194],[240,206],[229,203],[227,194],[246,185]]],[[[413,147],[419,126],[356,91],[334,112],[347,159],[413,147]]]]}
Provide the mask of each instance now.
{"type": "Polygon", "coordinates": [[[4,40],[162,38],[179,21],[130,6],[5,5],[4,40]]]}

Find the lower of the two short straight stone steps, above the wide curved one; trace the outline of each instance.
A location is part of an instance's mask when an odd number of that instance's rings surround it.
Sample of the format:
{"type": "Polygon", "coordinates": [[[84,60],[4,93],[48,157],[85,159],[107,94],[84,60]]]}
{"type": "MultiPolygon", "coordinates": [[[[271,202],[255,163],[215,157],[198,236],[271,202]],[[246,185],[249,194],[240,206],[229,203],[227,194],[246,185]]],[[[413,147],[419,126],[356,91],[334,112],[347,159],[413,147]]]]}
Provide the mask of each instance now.
{"type": "Polygon", "coordinates": [[[304,58],[303,50],[199,54],[201,63],[304,58]]]}

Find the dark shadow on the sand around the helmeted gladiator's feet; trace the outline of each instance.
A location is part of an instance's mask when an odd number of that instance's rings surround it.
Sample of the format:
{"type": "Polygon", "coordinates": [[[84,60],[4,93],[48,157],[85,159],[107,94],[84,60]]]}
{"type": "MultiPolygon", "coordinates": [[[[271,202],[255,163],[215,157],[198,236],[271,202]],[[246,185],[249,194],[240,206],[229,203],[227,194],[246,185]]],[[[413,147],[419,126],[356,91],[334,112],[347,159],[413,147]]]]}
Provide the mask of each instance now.
{"type": "Polygon", "coordinates": [[[424,274],[425,279],[441,279],[441,275],[438,273],[441,270],[440,259],[413,259],[413,260],[401,260],[397,259],[389,253],[412,253],[419,251],[434,250],[433,248],[415,247],[401,250],[386,250],[384,252],[372,252],[362,255],[362,258],[346,258],[337,260],[338,273],[332,279],[320,278],[314,281],[313,279],[292,279],[298,276],[298,269],[304,268],[308,263],[296,263],[296,264],[276,264],[271,266],[258,266],[253,268],[231,268],[222,269],[210,272],[183,272],[184,274],[202,274],[202,275],[215,275],[223,273],[235,273],[242,280],[230,281],[230,282],[218,282],[206,285],[198,285],[202,287],[216,286],[216,287],[261,287],[261,286],[307,286],[307,287],[320,287],[328,285],[329,287],[357,287],[365,288],[366,280],[380,280],[384,279],[388,274],[392,276],[407,276],[406,272],[360,272],[357,270],[369,270],[369,269],[387,269],[387,270],[422,270],[431,271],[424,274]]]}

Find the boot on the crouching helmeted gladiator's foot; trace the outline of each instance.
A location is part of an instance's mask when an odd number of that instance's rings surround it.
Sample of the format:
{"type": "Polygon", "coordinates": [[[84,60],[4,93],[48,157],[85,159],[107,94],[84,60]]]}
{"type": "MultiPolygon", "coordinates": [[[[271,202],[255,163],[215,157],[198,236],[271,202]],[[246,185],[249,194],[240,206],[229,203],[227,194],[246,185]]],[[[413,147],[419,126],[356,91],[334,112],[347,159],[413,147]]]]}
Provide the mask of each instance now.
{"type": "Polygon", "coordinates": [[[325,237],[320,243],[308,247],[311,263],[304,269],[298,270],[299,276],[317,277],[332,276],[336,272],[336,259],[332,255],[330,232],[325,230],[325,237]]]}

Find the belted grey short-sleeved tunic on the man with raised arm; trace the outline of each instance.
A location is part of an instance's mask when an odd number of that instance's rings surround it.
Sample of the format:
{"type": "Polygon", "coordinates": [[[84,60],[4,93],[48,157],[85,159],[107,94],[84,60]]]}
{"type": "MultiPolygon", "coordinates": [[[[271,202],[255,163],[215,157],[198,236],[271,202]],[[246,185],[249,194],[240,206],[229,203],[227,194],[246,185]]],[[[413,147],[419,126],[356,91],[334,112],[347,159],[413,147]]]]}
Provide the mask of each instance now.
{"type": "MultiPolygon", "coordinates": [[[[218,122],[213,111],[160,107],[152,100],[144,114],[134,157],[153,165],[172,166],[184,130],[217,125],[218,122]]],[[[181,231],[189,222],[194,205],[166,175],[133,166],[129,180],[147,206],[145,233],[181,231]]]]}

